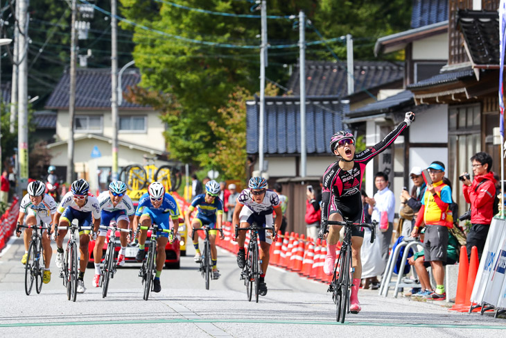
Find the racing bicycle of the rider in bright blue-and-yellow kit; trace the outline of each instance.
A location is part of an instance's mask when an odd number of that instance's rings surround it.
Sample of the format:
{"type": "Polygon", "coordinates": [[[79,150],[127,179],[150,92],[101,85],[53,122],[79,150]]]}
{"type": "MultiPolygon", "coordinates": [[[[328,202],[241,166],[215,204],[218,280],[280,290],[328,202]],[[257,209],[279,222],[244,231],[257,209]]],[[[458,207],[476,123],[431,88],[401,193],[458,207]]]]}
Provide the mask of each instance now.
{"type": "Polygon", "coordinates": [[[157,261],[157,239],[160,233],[168,233],[168,242],[174,242],[174,231],[173,229],[163,229],[159,228],[158,224],[153,223],[152,226],[139,226],[135,231],[134,237],[137,238],[139,235],[139,230],[150,230],[151,233],[148,233],[149,240],[146,240],[146,245],[149,246],[148,254],[144,257],[142,261],[141,270],[139,271],[139,277],[142,278],[141,284],[144,285],[144,294],[143,299],[147,301],[149,298],[149,293],[152,289],[152,282],[155,279],[156,271],[156,261],[157,261]]]}

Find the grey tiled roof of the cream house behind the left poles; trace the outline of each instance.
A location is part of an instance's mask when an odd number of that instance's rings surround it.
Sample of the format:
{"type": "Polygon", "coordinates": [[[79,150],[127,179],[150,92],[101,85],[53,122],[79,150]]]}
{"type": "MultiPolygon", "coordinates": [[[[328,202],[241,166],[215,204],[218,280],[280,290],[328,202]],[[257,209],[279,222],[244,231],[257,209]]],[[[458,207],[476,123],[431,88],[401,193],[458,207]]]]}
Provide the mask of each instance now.
{"type": "MultiPolygon", "coordinates": [[[[130,69],[121,77],[123,92],[141,81],[139,71],[130,69]]],[[[69,108],[70,75],[66,71],[46,102],[46,109],[69,108]]],[[[76,74],[76,108],[111,107],[111,69],[78,68],[76,74]]],[[[125,99],[121,108],[141,108],[125,99]]]]}

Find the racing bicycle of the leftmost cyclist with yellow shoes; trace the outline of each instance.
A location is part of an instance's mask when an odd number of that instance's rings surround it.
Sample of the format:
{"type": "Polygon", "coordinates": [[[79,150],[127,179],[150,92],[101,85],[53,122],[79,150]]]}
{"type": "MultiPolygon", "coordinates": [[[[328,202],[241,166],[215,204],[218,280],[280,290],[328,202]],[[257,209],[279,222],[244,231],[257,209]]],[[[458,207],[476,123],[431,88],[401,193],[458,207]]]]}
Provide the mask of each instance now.
{"type": "Polygon", "coordinates": [[[26,296],[30,296],[33,282],[35,280],[35,291],[40,294],[42,290],[44,278],[44,249],[42,248],[42,233],[47,230],[51,235],[51,227],[44,226],[44,222],[40,221],[40,225],[27,226],[26,224],[18,224],[16,233],[21,233],[21,228],[32,229],[32,239],[28,247],[28,255],[24,269],[24,291],[26,296]]]}

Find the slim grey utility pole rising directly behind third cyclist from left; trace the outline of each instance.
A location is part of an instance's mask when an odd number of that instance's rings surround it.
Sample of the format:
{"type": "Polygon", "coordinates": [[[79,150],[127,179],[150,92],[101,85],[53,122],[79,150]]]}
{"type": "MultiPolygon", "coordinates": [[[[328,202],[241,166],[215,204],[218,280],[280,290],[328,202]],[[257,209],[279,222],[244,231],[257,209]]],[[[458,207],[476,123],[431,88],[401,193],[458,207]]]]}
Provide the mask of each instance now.
{"type": "Polygon", "coordinates": [[[118,180],[118,42],[116,0],[111,0],[112,180],[118,180]]]}

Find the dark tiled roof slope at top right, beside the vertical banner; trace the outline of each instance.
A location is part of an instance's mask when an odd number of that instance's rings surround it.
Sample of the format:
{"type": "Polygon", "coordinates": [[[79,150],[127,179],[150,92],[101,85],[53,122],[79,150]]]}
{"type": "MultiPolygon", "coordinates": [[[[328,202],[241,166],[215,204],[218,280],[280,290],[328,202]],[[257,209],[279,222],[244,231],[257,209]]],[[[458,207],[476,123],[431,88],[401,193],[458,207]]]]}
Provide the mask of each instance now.
{"type": "Polygon", "coordinates": [[[460,31],[475,65],[499,65],[499,15],[485,10],[460,10],[460,31]]]}

